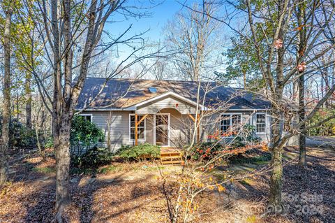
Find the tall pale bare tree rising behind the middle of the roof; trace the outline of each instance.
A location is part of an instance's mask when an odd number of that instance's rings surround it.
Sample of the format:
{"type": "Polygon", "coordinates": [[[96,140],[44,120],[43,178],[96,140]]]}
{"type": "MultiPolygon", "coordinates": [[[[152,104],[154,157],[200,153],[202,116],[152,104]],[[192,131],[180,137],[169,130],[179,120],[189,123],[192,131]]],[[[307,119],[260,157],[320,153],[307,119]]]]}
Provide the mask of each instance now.
{"type": "Polygon", "coordinates": [[[222,41],[221,23],[211,18],[217,11],[213,3],[194,3],[167,24],[166,41],[168,48],[176,52],[171,62],[179,78],[198,81],[204,74],[208,78],[221,65],[217,51],[222,41]]]}

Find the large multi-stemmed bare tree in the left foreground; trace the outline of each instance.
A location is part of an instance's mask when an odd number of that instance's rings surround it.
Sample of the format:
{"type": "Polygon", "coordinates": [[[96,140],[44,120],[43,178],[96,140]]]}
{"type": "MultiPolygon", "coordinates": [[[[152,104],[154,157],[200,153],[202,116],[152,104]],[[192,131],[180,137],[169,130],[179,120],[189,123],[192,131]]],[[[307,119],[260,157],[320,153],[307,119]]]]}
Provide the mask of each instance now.
{"type": "MultiPolygon", "coordinates": [[[[32,7],[29,1],[27,7],[32,7]]],[[[69,168],[70,168],[70,125],[77,99],[84,85],[89,62],[94,50],[101,40],[107,18],[120,8],[124,1],[38,1],[37,6],[43,22],[38,24],[40,34],[45,36],[45,52],[52,64],[53,96],[52,135],[57,160],[56,204],[57,222],[62,222],[64,208],[70,201],[69,168]],[[50,7],[50,10],[49,10],[50,7]],[[74,9],[78,10],[76,13],[74,9]],[[51,21],[51,22],[50,22],[51,21]],[[83,38],[83,45],[77,45],[77,38],[83,38]],[[74,49],[79,64],[73,64],[74,49]],[[51,53],[49,52],[51,50],[51,53]],[[73,82],[73,75],[77,79],[73,82]]],[[[36,13],[38,15],[38,13],[36,13]]],[[[36,16],[35,15],[35,16],[36,16]]],[[[34,64],[32,64],[34,66],[34,64]]],[[[34,73],[34,72],[33,72],[34,73]]],[[[44,90],[43,82],[38,83],[44,90]]],[[[47,93],[47,92],[46,92],[47,93]]]]}

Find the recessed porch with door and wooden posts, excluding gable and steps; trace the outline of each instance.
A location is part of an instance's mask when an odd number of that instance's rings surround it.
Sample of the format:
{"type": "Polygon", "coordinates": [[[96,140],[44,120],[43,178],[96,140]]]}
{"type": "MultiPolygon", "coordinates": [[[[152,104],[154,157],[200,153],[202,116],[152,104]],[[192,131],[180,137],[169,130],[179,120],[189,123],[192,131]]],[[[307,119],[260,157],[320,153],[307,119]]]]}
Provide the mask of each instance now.
{"type": "Polygon", "coordinates": [[[199,143],[202,138],[199,120],[200,115],[180,113],[176,108],[145,114],[135,111],[131,114],[133,145],[145,142],[161,148],[181,148],[191,140],[199,143]],[[194,133],[196,136],[192,138],[194,133]]]}

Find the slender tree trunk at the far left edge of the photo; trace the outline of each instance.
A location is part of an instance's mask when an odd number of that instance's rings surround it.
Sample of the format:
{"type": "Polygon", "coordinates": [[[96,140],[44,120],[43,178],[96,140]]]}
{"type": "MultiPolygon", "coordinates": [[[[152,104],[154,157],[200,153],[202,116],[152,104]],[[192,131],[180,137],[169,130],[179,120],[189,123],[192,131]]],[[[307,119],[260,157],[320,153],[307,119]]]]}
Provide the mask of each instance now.
{"type": "Polygon", "coordinates": [[[10,122],[10,24],[12,22],[13,10],[6,10],[6,23],[3,35],[4,66],[3,77],[3,113],[0,145],[0,186],[8,178],[7,154],[9,148],[9,122],[10,122]]]}

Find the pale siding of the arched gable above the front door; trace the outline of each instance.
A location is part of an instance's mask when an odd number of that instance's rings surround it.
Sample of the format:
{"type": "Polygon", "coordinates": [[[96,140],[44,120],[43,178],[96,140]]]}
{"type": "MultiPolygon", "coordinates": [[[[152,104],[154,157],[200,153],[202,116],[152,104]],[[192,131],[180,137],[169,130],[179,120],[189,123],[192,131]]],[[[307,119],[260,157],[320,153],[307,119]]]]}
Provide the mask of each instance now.
{"type": "Polygon", "coordinates": [[[173,96],[165,96],[163,99],[146,103],[138,107],[136,112],[138,114],[156,114],[163,108],[174,108],[181,114],[195,113],[195,106],[176,99],[173,96]]]}

